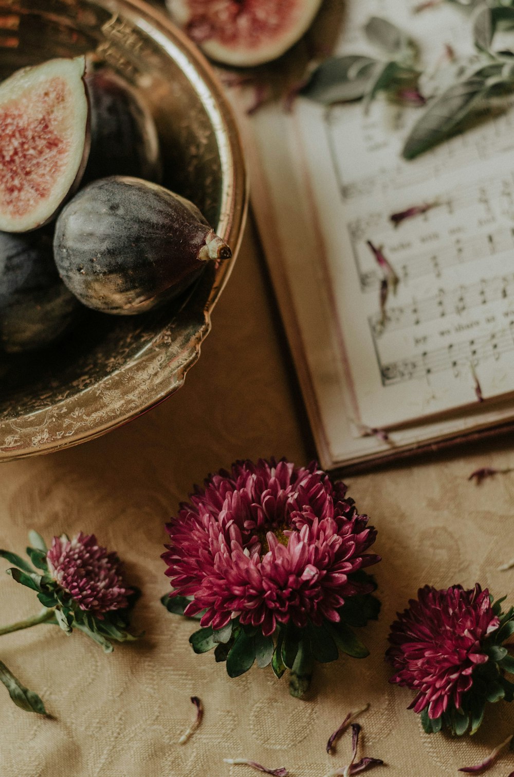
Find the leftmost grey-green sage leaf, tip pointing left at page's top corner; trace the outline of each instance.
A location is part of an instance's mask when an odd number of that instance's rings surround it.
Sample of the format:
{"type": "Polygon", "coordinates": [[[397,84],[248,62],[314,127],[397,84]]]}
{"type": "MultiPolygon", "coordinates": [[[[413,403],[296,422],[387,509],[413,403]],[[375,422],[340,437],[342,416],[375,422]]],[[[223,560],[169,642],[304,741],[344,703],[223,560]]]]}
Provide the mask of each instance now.
{"type": "Polygon", "coordinates": [[[376,59],[349,54],[328,57],[314,70],[300,94],[316,103],[350,103],[366,94],[376,59]]]}

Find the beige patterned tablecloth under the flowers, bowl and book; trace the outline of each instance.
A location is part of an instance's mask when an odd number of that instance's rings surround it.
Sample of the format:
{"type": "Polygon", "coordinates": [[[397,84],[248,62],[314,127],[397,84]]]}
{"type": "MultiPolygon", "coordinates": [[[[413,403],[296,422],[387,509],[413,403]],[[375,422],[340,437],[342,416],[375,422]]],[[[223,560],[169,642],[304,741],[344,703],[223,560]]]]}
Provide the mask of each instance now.
{"type": "MultiPolygon", "coordinates": [[[[286,679],[277,681],[270,670],[227,678],[211,653],[190,649],[191,625],[160,604],[168,589],[159,558],[164,523],[193,483],[235,458],[307,461],[309,437],[271,299],[248,236],[183,389],[99,440],[0,467],[0,546],[23,552],[30,528],[46,538],[96,532],[143,589],[134,626],[146,632],[111,655],[54,626],[2,636],[0,659],[56,720],[24,713],[0,686],[0,777],[254,774],[223,763],[238,757],[286,766],[291,777],[323,777],[345,765],[350,751],[347,733],[329,757],[328,736],[365,702],[371,707],[360,719],[363,749],[387,763],[372,772],[377,777],[457,775],[514,732],[514,705],[500,702],[471,740],[425,735],[406,709],[411,692],[387,683],[383,658],[388,625],[419,585],[478,580],[514,602],[514,570],[498,571],[514,556],[514,474],[481,486],[467,482],[478,466],[514,465],[508,444],[349,479],[350,495],[378,528],[383,612],[364,633],[371,657],[318,665],[308,701],[292,699],[286,679]],[[193,719],[191,695],[203,700],[205,716],[180,746],[193,719]]],[[[33,592],[0,574],[0,622],[37,608],[33,592]]],[[[507,777],[512,769],[514,754],[488,775],[507,777]]]]}

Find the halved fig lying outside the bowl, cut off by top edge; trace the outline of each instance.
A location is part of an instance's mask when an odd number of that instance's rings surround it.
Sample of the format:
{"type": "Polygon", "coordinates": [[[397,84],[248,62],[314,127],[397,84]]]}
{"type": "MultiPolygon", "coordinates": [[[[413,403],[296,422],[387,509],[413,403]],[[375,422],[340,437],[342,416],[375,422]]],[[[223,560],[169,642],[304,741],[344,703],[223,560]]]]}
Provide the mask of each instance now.
{"type": "Polygon", "coordinates": [[[250,67],[284,54],[322,0],[166,0],[175,23],[217,62],[250,67]]]}

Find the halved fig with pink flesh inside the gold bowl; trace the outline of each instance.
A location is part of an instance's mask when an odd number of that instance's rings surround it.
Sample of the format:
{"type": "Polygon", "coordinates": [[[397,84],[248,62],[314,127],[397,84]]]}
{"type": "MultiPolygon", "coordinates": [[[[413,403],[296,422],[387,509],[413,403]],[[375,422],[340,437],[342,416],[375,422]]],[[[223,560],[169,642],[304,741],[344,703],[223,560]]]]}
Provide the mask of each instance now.
{"type": "Polygon", "coordinates": [[[89,153],[84,57],[24,68],[0,84],[0,230],[45,224],[78,185],[89,153]]]}

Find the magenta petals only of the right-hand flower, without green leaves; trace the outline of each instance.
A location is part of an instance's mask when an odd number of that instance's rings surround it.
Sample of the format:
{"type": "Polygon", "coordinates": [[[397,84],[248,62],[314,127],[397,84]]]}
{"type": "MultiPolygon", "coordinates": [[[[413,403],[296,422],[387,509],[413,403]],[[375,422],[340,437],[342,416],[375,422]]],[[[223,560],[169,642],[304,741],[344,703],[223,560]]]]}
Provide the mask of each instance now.
{"type": "Polygon", "coordinates": [[[391,625],[386,653],[396,670],[391,682],[418,692],[409,709],[426,708],[432,720],[461,710],[474,672],[490,660],[484,640],[499,625],[489,592],[478,583],[469,591],[460,585],[420,588],[418,599],[391,625]]]}

